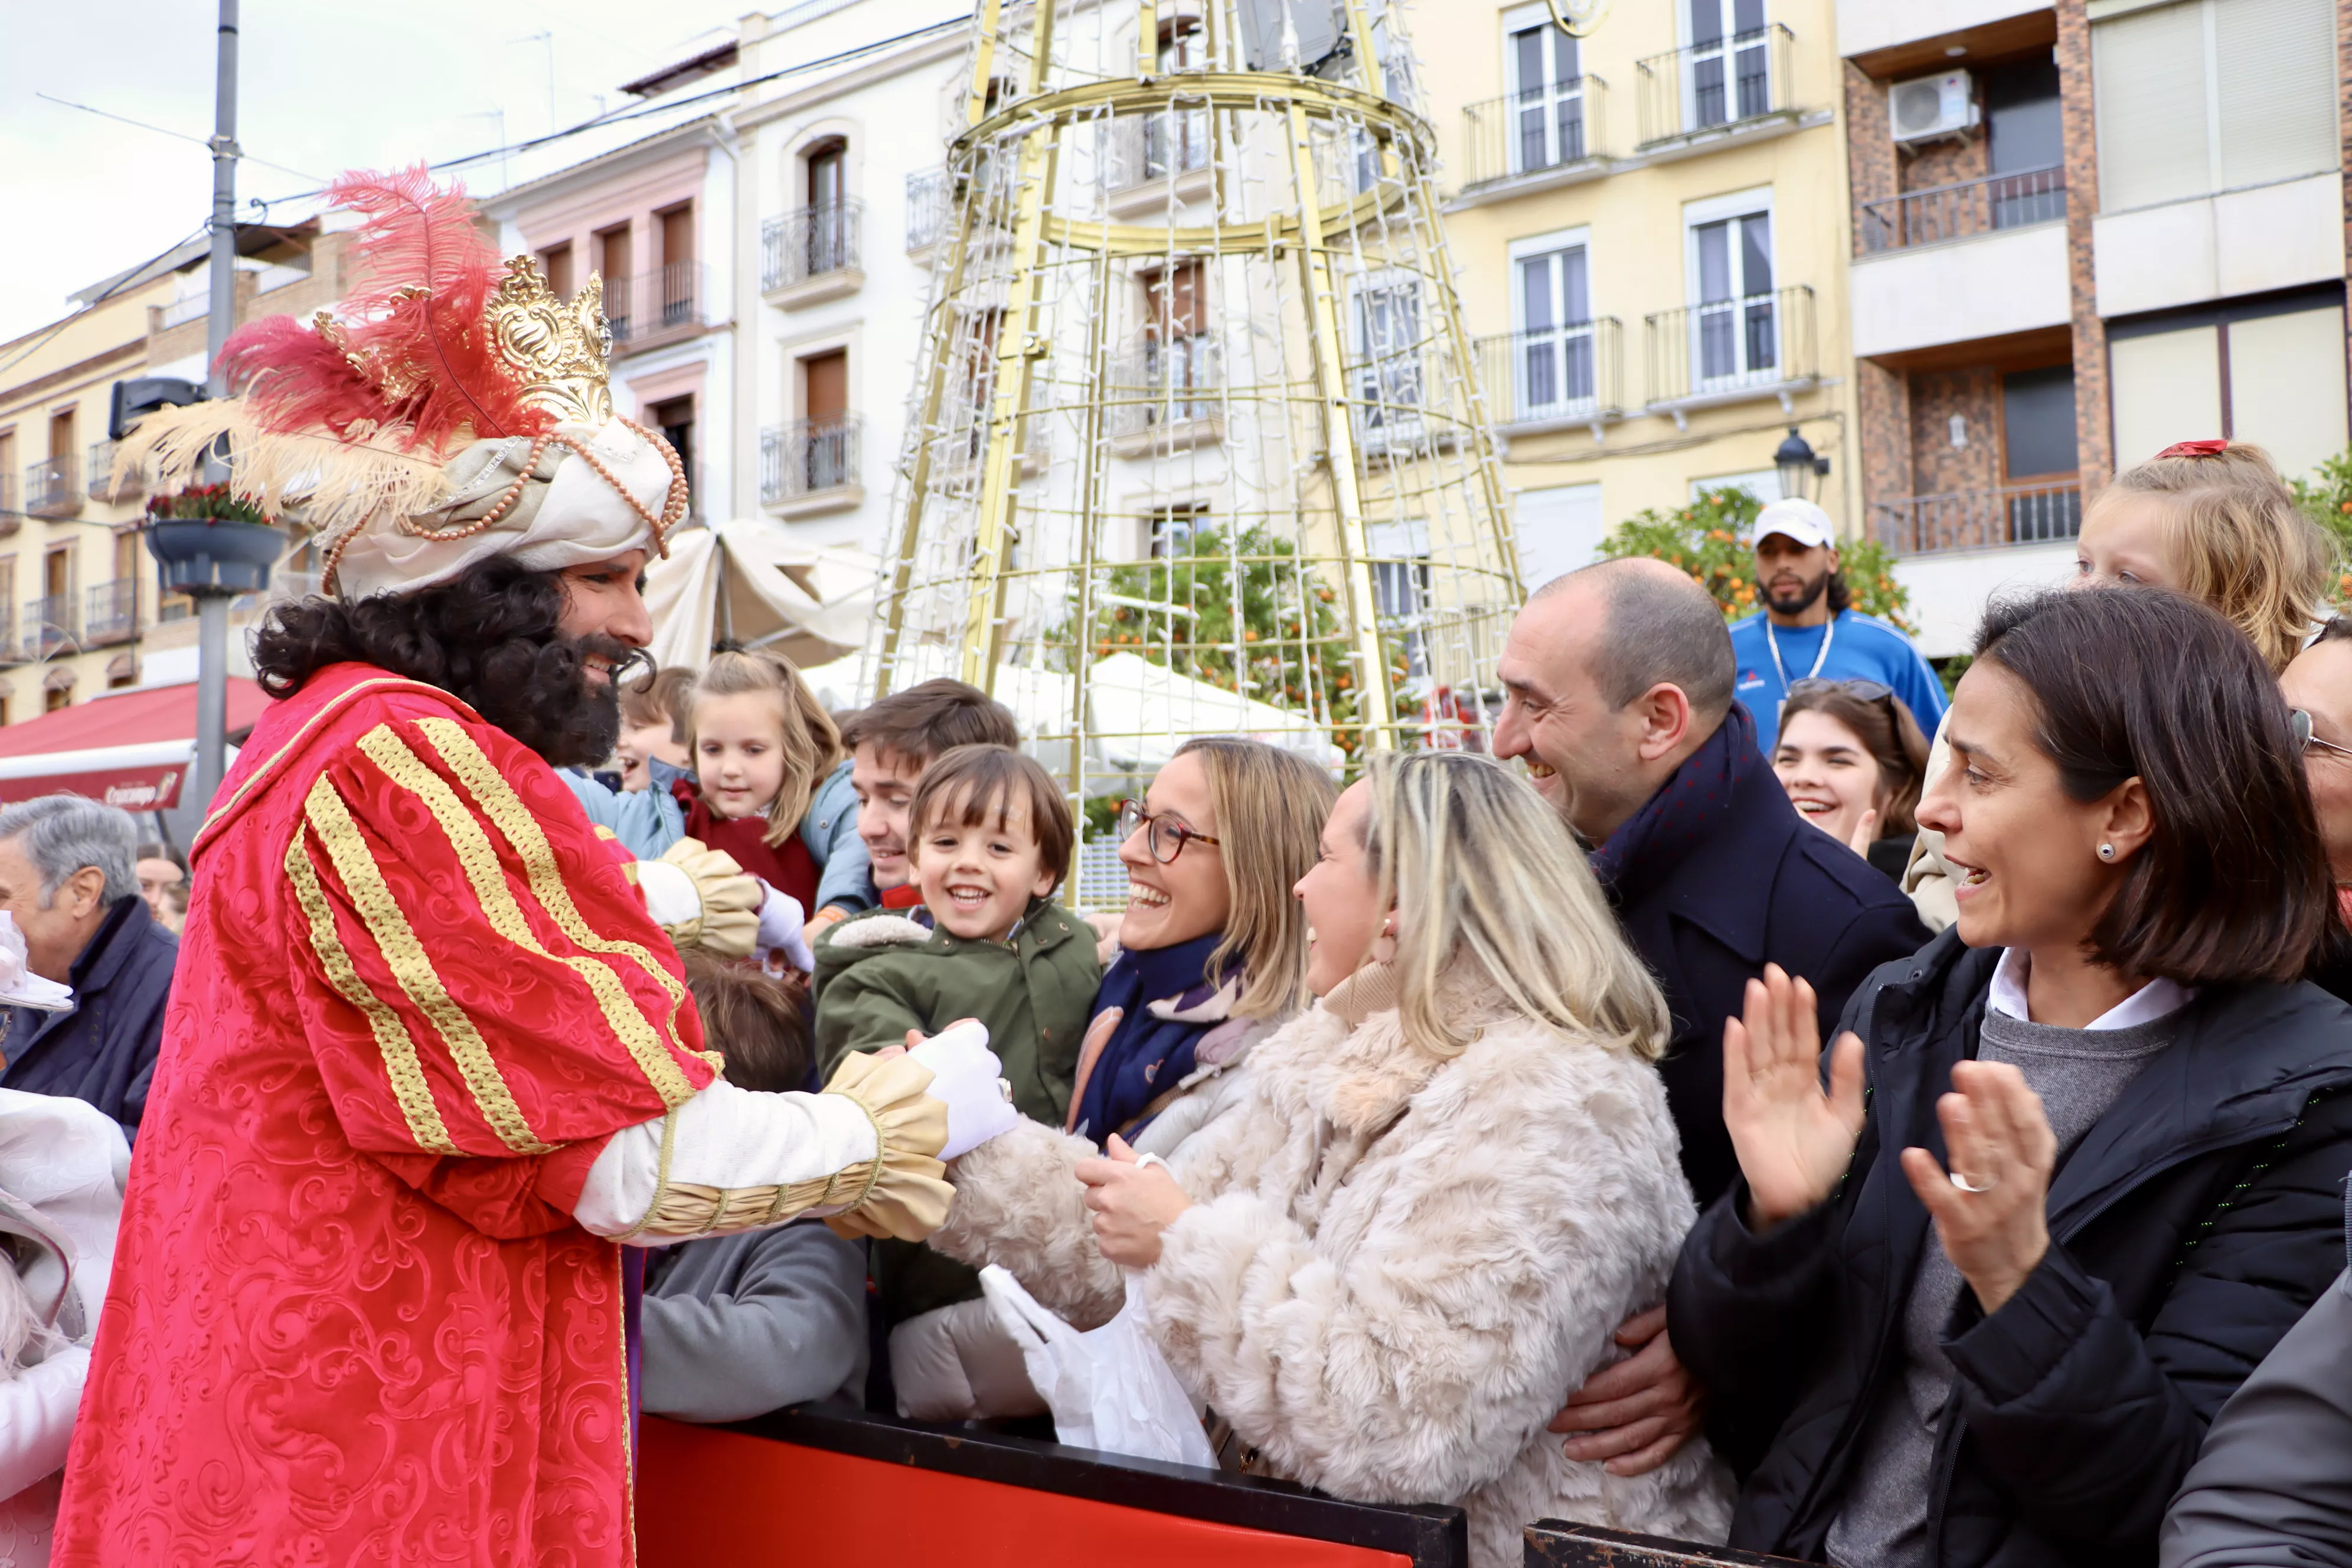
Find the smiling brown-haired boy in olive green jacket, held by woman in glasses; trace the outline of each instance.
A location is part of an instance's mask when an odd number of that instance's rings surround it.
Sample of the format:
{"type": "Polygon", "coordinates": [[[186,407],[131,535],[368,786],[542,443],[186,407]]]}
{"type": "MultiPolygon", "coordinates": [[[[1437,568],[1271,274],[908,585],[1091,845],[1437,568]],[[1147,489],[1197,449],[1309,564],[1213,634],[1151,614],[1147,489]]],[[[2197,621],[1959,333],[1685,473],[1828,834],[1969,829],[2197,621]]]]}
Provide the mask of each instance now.
{"type": "MultiPolygon", "coordinates": [[[[1051,900],[1073,837],[1061,785],[1021,752],[962,745],[931,762],[906,835],[922,910],[854,914],[816,947],[826,1067],[978,1018],[1021,1114],[1061,1126],[1103,978],[1094,931],[1051,900]]],[[[901,1415],[1044,1410],[1021,1352],[988,1316],[978,1274],[922,1246],[882,1244],[875,1286],[901,1415]]]]}

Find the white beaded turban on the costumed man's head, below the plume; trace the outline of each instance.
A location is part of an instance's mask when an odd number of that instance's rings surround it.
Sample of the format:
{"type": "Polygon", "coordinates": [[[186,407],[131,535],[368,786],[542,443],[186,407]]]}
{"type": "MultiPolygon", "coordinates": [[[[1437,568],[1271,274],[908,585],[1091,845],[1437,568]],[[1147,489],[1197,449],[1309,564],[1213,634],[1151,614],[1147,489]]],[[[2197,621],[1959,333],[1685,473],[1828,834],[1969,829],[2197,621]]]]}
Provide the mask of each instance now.
{"type": "Polygon", "coordinates": [[[652,550],[656,529],[647,517],[663,517],[675,480],[663,449],[619,418],[562,423],[555,435],[586,447],[604,473],[572,447],[548,442],[499,520],[466,534],[499,508],[532,461],[527,435],[473,442],[442,465],[449,491],[437,508],[405,527],[372,524],[350,538],[336,562],[336,592],[343,599],[416,592],[492,555],[513,555],[532,571],[562,571],[652,550]],[[440,538],[430,538],[435,534],[440,538]]]}

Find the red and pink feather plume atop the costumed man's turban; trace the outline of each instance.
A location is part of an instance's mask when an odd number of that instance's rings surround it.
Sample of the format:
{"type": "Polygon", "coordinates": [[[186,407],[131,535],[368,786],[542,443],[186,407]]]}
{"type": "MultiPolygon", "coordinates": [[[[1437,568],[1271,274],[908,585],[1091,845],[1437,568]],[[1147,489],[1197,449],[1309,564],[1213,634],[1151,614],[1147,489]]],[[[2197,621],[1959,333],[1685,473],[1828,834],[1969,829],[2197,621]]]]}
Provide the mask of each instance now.
{"type": "Polygon", "coordinates": [[[412,451],[548,430],[555,416],[524,402],[485,322],[499,252],[475,228],[466,188],[435,188],[416,165],[346,174],[327,197],[365,216],[343,341],[282,315],[228,339],[221,355],[233,378],[247,378],[254,416],[278,430],[405,430],[412,451]]]}

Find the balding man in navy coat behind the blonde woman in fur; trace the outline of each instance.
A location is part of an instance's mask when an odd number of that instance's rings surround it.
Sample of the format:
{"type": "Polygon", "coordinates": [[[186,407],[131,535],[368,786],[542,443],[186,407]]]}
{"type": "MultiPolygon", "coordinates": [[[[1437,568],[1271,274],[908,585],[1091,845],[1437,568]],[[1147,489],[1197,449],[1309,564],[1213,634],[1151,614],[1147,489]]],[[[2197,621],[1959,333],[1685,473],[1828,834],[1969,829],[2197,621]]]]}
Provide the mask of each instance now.
{"type": "MultiPolygon", "coordinates": [[[[1724,1020],[1780,964],[1813,983],[1820,1027],[1879,964],[1926,945],[1919,914],[1867,860],[1788,804],[1755,719],[1731,698],[1724,616],[1665,562],[1621,559],[1545,583],[1501,661],[1498,757],[1592,846],[1592,870],[1672,1011],[1658,1074],[1682,1168],[1705,1208],[1738,1175],[1724,1133],[1724,1020]]],[[[1573,1460],[1621,1474],[1665,1462],[1698,1425],[1665,1312],[1618,1331],[1635,1356],[1592,1378],[1552,1422],[1573,1460]]]]}

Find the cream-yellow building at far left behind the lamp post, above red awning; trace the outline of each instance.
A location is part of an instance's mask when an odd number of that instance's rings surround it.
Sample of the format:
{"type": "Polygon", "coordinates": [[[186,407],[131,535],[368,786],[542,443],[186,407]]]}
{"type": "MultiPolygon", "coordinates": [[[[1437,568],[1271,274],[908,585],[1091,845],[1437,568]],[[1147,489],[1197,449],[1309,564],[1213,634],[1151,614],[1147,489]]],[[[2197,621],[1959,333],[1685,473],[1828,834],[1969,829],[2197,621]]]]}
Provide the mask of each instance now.
{"type": "MultiPolygon", "coordinates": [[[[113,386],[205,381],[212,242],[193,240],[82,289],[78,310],[0,346],[0,724],[92,693],[195,679],[195,604],[160,597],[139,522],[146,484],[113,482],[113,386]]],[[[238,228],[238,322],[299,315],[343,292],[341,237],[315,223],[238,228]]],[[[318,583],[289,541],[273,592],[318,583]]],[[[266,597],[233,602],[242,628],[266,597]]],[[[233,661],[245,639],[230,637],[233,661]]]]}

